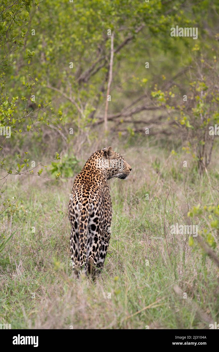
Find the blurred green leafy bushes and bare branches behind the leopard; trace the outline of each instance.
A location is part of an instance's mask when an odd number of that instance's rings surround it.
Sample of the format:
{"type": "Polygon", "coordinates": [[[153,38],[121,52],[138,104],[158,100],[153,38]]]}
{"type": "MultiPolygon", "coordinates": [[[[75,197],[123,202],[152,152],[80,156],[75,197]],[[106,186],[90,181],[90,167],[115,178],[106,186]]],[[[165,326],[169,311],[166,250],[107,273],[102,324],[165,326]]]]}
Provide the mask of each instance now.
{"type": "Polygon", "coordinates": [[[17,172],[16,162],[4,165],[6,155],[13,162],[28,151],[41,162],[69,148],[77,153],[100,135],[105,144],[131,143],[149,128],[149,137],[179,133],[202,172],[214,139],[206,131],[219,121],[218,7],[207,0],[3,0],[0,125],[12,129],[12,138],[1,136],[3,169],[17,172]],[[198,39],[171,37],[176,25],[197,27],[198,39]]]}

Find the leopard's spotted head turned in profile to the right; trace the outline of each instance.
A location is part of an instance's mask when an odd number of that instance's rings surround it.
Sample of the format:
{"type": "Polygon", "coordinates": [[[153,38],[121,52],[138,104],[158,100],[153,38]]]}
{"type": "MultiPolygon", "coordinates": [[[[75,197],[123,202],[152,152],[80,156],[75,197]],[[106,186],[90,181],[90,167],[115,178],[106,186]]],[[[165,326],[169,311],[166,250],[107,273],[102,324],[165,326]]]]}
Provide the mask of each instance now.
{"type": "Polygon", "coordinates": [[[101,150],[100,168],[102,168],[107,180],[112,177],[122,178],[128,177],[131,166],[125,161],[123,156],[112,150],[112,147],[104,147],[101,150]]]}

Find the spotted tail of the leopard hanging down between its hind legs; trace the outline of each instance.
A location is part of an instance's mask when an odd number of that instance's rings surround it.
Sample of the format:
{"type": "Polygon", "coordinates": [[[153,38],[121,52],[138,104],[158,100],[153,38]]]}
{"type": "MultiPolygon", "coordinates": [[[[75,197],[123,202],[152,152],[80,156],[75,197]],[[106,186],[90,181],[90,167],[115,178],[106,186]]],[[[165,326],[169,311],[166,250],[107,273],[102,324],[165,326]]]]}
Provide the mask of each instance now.
{"type": "Polygon", "coordinates": [[[86,260],[87,260],[87,237],[88,237],[88,222],[89,212],[88,210],[82,210],[79,214],[79,253],[80,253],[80,268],[85,271],[86,274],[86,260]]]}

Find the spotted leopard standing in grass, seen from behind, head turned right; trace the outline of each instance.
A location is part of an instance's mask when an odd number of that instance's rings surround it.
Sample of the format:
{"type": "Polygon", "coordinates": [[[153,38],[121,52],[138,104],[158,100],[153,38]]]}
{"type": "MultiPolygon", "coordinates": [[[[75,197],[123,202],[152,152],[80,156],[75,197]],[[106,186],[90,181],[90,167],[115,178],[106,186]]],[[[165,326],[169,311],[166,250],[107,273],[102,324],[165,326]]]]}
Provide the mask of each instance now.
{"type": "Polygon", "coordinates": [[[70,250],[77,277],[95,277],[103,269],[111,237],[112,201],[108,181],[125,180],[131,166],[123,156],[104,147],[94,152],[75,177],[69,199],[70,250]]]}

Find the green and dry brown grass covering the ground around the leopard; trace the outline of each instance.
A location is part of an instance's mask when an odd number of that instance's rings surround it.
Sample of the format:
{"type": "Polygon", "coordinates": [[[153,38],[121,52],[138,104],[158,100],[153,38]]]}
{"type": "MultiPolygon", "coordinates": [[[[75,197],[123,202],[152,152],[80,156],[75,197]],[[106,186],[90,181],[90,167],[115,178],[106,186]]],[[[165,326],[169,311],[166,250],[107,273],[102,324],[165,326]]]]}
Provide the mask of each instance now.
{"type": "MultiPolygon", "coordinates": [[[[0,253],[0,323],[24,329],[203,329],[218,321],[217,266],[188,245],[187,235],[170,233],[170,225],[188,223],[190,207],[217,204],[217,161],[208,170],[210,185],[192,161],[180,169],[184,155],[168,160],[160,152],[162,171],[154,166],[156,157],[153,148],[127,150],[130,178],[110,182],[112,235],[95,283],[72,274],[67,203],[73,180],[51,184],[24,176],[14,182],[19,199],[1,223],[2,237],[15,234],[0,253]]],[[[7,196],[13,195],[8,184],[7,196]]],[[[205,218],[197,221],[207,224],[205,218]]]]}

